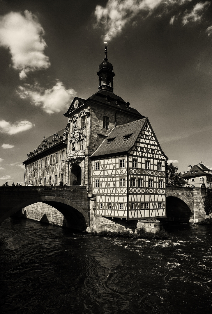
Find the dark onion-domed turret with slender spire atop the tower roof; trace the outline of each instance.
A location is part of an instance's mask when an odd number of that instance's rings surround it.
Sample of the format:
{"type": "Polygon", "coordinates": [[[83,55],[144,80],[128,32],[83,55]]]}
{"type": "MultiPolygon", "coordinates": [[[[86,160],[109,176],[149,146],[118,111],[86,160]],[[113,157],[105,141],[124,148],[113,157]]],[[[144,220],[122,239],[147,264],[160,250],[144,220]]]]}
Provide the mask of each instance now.
{"type": "Polygon", "coordinates": [[[104,53],[105,57],[102,63],[99,64],[99,72],[97,73],[99,77],[99,87],[101,90],[109,90],[113,93],[113,77],[115,73],[113,72],[113,66],[108,62],[107,53],[108,47],[105,45],[104,53]]]}

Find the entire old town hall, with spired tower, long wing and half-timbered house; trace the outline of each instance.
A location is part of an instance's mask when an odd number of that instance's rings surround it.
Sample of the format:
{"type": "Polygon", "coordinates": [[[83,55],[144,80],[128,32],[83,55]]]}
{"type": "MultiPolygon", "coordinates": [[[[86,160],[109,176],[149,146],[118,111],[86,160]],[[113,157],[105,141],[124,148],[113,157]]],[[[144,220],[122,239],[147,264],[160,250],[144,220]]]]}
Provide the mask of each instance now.
{"type": "Polygon", "coordinates": [[[147,117],[113,92],[113,66],[99,65],[98,91],[75,97],[67,126],[28,153],[25,185],[86,186],[95,215],[129,220],[165,217],[165,160],[147,117]]]}

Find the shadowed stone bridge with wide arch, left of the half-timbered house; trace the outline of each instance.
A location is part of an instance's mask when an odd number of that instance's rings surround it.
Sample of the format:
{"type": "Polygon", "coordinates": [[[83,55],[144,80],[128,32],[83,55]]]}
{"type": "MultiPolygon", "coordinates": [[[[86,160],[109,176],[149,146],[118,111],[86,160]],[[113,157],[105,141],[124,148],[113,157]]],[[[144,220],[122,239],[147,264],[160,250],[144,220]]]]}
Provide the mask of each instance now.
{"type": "Polygon", "coordinates": [[[85,186],[0,187],[0,224],[22,208],[39,202],[63,214],[69,228],[83,231],[90,227],[90,201],[85,186]]]}

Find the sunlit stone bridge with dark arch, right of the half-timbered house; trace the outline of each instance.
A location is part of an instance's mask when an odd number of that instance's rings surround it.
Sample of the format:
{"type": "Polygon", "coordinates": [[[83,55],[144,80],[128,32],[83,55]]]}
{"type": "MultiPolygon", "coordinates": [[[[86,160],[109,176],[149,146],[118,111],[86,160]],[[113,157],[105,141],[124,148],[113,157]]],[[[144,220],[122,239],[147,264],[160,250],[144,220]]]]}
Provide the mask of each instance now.
{"type": "Polygon", "coordinates": [[[198,222],[207,218],[205,188],[166,186],[166,218],[160,220],[198,222]]]}

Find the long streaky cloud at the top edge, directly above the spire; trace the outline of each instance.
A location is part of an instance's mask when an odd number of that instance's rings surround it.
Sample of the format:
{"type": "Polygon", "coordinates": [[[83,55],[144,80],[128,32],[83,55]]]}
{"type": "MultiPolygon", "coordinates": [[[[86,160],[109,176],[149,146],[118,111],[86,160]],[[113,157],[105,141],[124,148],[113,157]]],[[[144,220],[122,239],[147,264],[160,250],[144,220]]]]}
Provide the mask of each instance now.
{"type": "MultiPolygon", "coordinates": [[[[108,0],[105,8],[101,5],[96,6],[94,15],[97,23],[94,26],[102,25],[106,32],[103,36],[104,41],[110,41],[138,14],[142,13],[144,19],[160,5],[164,6],[163,13],[167,13],[167,7],[180,6],[190,1],[192,0],[108,0]]],[[[134,22],[132,24],[135,26],[134,22]]]]}

